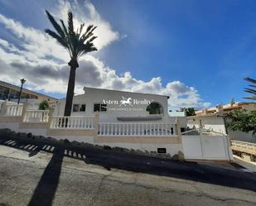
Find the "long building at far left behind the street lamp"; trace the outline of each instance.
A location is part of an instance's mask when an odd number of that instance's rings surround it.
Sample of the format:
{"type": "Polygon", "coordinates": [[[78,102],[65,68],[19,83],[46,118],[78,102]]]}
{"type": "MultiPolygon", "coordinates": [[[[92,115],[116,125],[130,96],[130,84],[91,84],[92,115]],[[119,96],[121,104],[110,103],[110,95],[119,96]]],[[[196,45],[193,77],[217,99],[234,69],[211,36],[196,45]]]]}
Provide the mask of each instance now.
{"type": "MultiPolygon", "coordinates": [[[[0,81],[0,99],[17,101],[19,98],[20,87],[0,81]]],[[[56,103],[57,98],[52,98],[42,93],[36,93],[29,89],[22,89],[21,103],[29,102],[28,99],[33,99],[34,102],[40,103],[42,100],[47,100],[50,103],[56,103]]],[[[30,101],[31,102],[31,101],[30,101]]]]}

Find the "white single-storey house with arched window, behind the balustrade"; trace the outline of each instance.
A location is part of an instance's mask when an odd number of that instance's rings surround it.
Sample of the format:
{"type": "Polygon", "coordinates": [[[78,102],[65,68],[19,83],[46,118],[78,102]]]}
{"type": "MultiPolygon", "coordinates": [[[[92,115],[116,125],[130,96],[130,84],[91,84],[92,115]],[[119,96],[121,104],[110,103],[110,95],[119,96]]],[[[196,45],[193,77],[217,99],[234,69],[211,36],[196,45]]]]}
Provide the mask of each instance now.
{"type": "MultiPolygon", "coordinates": [[[[85,93],[74,96],[71,116],[94,116],[99,111],[100,122],[174,122],[176,119],[169,116],[168,96],[110,89],[84,90],[85,93]]],[[[64,108],[65,99],[60,99],[54,114],[63,115],[64,108]]],[[[184,124],[186,127],[186,122],[184,124]]]]}

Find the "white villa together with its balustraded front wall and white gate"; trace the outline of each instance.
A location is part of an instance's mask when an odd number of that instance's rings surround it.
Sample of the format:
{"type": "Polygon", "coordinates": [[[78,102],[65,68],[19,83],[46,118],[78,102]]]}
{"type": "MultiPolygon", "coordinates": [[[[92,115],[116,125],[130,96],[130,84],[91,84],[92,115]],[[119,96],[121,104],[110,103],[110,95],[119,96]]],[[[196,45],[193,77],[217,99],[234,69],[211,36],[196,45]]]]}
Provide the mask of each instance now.
{"type": "Polygon", "coordinates": [[[74,96],[70,117],[63,116],[65,99],[50,110],[0,101],[0,128],[147,154],[179,154],[181,159],[233,158],[225,133],[197,129],[186,132],[184,113],[170,116],[168,96],[87,87],[84,90],[74,96]]]}

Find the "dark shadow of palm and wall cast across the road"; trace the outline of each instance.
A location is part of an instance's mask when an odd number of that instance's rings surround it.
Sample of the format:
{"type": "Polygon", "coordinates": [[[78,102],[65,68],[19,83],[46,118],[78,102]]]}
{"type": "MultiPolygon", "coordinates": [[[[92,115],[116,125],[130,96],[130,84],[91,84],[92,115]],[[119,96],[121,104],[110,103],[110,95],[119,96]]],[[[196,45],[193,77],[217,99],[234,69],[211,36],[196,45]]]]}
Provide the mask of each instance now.
{"type": "MultiPolygon", "coordinates": [[[[49,183],[49,181],[51,182],[50,177],[53,175],[53,184],[48,185],[52,187],[50,192],[51,195],[48,197],[50,202],[52,201],[52,198],[56,192],[63,156],[69,156],[74,159],[83,160],[86,164],[99,165],[104,167],[106,170],[128,170],[149,175],[162,175],[182,180],[198,181],[206,184],[216,184],[239,189],[248,189],[256,192],[255,174],[242,172],[239,170],[229,170],[216,167],[214,165],[200,165],[191,162],[180,162],[148,156],[138,156],[111,150],[106,151],[95,149],[94,147],[90,146],[63,146],[58,143],[41,143],[36,140],[21,140],[7,137],[4,142],[2,141],[2,144],[6,146],[13,146],[14,144],[13,147],[16,147],[17,149],[20,149],[19,145],[22,145],[24,150],[24,148],[27,147],[23,145],[31,144],[31,142],[33,142],[32,144],[34,146],[37,146],[37,150],[40,150],[41,148],[41,151],[52,152],[51,148],[55,148],[52,160],[49,162],[49,165],[47,166],[34,193],[35,198],[38,196],[41,197],[38,192],[41,192],[41,189],[46,188],[45,183],[49,183]],[[12,141],[14,141],[15,144],[12,141]],[[56,170],[56,172],[52,172],[52,170],[56,170]]],[[[41,205],[47,206],[50,204],[46,203],[41,205]]]]}

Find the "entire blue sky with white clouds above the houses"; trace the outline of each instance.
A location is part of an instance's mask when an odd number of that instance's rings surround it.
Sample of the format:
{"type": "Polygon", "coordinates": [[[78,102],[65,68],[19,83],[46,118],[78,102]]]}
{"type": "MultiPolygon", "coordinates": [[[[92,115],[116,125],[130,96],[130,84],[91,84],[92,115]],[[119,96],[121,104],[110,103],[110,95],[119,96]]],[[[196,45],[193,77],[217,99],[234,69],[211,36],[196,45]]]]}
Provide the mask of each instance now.
{"type": "Polygon", "coordinates": [[[203,108],[244,101],[244,77],[255,78],[255,1],[0,0],[0,79],[16,83],[24,74],[27,88],[65,96],[66,57],[42,35],[51,28],[43,10],[65,20],[67,7],[99,26],[99,51],[81,60],[76,93],[84,85],[161,93],[171,107],[203,108]]]}

